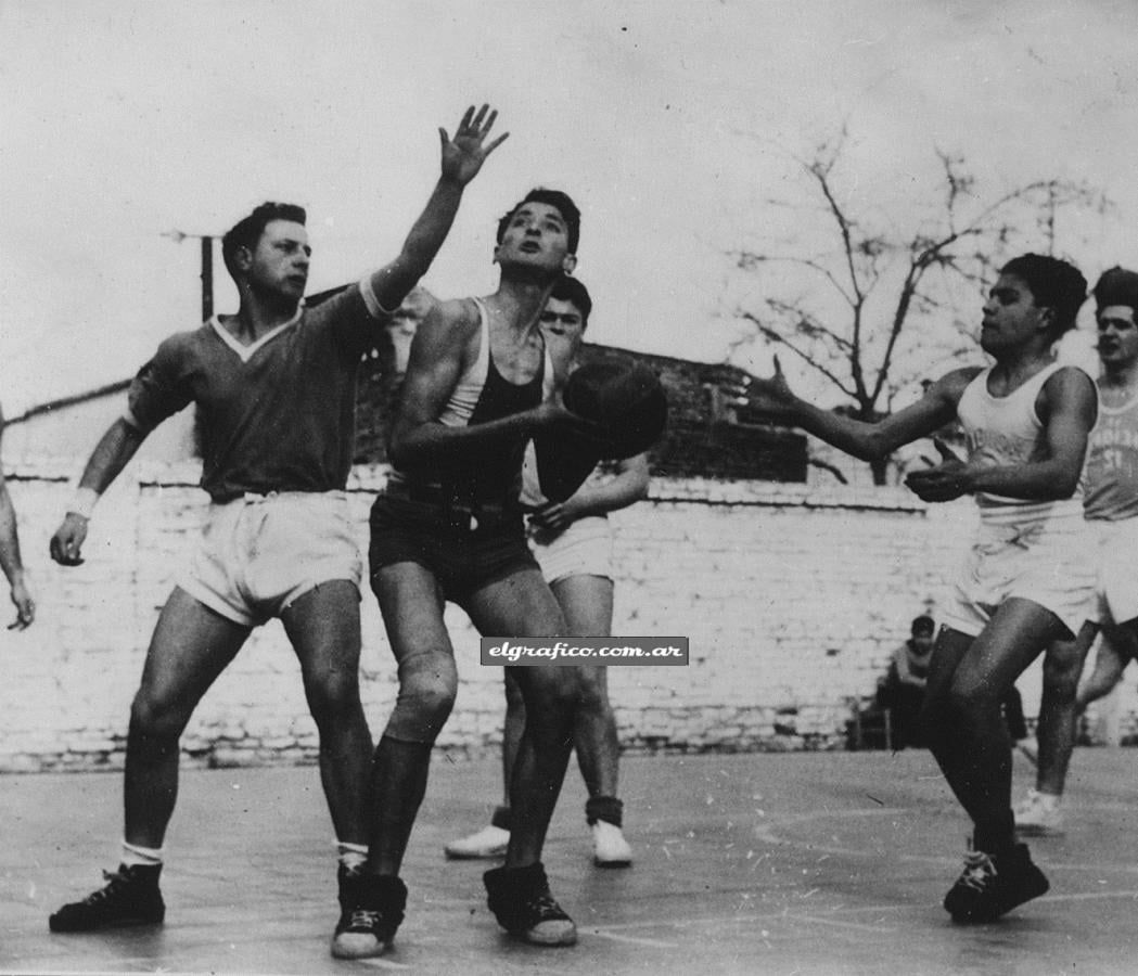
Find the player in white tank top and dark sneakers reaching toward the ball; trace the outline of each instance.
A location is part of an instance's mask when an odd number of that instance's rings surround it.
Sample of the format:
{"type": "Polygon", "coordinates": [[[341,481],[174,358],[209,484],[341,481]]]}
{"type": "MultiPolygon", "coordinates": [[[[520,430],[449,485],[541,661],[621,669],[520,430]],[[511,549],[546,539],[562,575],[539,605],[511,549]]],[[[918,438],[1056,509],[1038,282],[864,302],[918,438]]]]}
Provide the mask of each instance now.
{"type": "Polygon", "coordinates": [[[1058,365],[1054,342],[1074,326],[1087,282],[1072,265],[1024,255],[1003,268],[983,307],[989,369],[954,370],[920,402],[877,423],[795,397],[782,372],[753,383],[769,408],[863,460],[888,456],[959,419],[960,461],[910,473],[925,502],[974,495],[980,526],[930,664],[923,723],[945,777],[974,824],[973,847],[945,908],[991,921],[1048,888],[1014,837],[1012,756],[1000,700],[1040,648],[1070,638],[1094,594],[1081,546],[1080,475],[1095,424],[1094,381],[1058,365]]]}

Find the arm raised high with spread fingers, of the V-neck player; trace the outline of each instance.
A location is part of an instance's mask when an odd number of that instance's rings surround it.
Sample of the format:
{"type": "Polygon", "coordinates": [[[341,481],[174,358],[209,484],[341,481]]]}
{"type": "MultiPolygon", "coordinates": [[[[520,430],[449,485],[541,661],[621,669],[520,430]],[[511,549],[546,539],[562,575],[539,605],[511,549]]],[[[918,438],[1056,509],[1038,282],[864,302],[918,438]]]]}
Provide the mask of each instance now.
{"type": "Polygon", "coordinates": [[[443,165],[438,183],[435,184],[427,206],[403,242],[399,256],[376,272],[371,279],[372,293],[382,308],[393,312],[398,308],[399,303],[430,267],[435,255],[446,240],[451,224],[454,223],[454,215],[459,212],[462,191],[467,183],[478,175],[486,157],[510,134],[504,133],[493,142],[486,143],[496,118],[497,113],[490,110],[488,106],[484,105],[477,114],[471,106],[462,116],[454,139],[447,135],[445,129],[439,129],[443,165]]]}

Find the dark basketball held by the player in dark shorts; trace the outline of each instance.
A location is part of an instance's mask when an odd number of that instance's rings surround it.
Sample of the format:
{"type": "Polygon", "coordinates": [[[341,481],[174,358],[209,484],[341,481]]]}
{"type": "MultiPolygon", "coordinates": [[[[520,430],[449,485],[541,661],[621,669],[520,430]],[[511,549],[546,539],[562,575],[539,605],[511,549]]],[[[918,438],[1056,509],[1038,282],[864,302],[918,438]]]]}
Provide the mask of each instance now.
{"type": "Polygon", "coordinates": [[[570,373],[562,402],[566,410],[601,425],[610,461],[648,450],[668,420],[663,387],[643,363],[582,366],[570,373]]]}

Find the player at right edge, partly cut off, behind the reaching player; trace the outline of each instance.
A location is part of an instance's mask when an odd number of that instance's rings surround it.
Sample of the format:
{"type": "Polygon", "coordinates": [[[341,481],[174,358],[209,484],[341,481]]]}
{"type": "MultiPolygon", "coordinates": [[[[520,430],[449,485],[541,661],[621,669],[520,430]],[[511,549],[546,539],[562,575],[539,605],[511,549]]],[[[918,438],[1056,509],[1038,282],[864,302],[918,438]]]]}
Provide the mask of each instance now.
{"type": "Polygon", "coordinates": [[[1063,828],[1063,788],[1078,717],[1108,694],[1138,656],[1138,274],[1113,267],[1095,286],[1102,416],[1090,439],[1083,514],[1097,544],[1098,609],[1077,644],[1048,648],[1039,710],[1036,787],[1015,808],[1024,835],[1063,828]],[[1087,651],[1098,659],[1079,687],[1087,651]]]}

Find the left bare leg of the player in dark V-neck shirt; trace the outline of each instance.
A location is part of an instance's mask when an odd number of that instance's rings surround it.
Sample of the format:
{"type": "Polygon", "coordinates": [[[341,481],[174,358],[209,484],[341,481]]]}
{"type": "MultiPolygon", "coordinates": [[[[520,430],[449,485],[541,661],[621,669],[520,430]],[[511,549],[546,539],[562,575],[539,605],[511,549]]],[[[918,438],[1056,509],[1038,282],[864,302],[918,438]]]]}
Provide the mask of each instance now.
{"type": "Polygon", "coordinates": [[[181,588],[166,601],[131,706],[123,783],[127,843],[162,847],[178,800],[179,737],[249,632],[181,588]]]}

